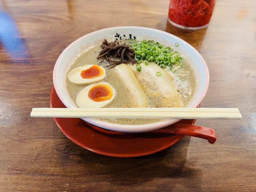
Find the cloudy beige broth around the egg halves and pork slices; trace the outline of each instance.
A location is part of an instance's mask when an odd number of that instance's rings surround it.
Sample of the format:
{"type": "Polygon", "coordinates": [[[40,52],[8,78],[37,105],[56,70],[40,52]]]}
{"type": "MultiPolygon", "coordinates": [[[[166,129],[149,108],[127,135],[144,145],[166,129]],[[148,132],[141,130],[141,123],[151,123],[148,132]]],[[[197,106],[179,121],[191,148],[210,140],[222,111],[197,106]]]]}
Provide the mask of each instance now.
{"type": "MultiPolygon", "coordinates": [[[[78,57],[73,65],[70,66],[69,71],[71,71],[74,68],[84,66],[84,65],[98,65],[99,60],[97,59],[97,56],[99,55],[99,52],[101,51],[101,46],[95,46],[94,48],[88,50],[87,52],[81,54],[80,57],[78,57]]],[[[178,74],[172,72],[169,70],[169,68],[166,68],[166,71],[168,71],[172,77],[174,78],[174,82],[177,85],[177,89],[180,91],[180,95],[182,96],[182,100],[184,105],[186,105],[191,97],[193,96],[193,93],[195,91],[195,75],[193,69],[190,67],[188,62],[184,59],[184,68],[178,69],[180,72],[178,74]]],[[[131,65],[131,64],[128,64],[131,65]]],[[[106,64],[102,63],[100,64],[101,67],[105,67],[106,64]]],[[[176,70],[173,67],[173,71],[176,70]]],[[[109,104],[107,107],[109,108],[120,108],[120,107],[137,107],[136,104],[133,102],[132,94],[128,91],[128,89],[125,87],[125,85],[122,83],[124,80],[117,75],[117,72],[115,69],[108,69],[106,68],[107,78],[105,79],[105,82],[108,82],[115,90],[116,90],[116,99],[109,104]]],[[[68,72],[69,72],[68,71],[68,72]]],[[[177,71],[176,71],[177,72],[177,71]]],[[[77,94],[85,88],[87,85],[77,85],[68,80],[66,78],[67,82],[67,90],[71,97],[71,99],[76,103],[77,94]]],[[[168,106],[162,106],[161,105],[161,96],[154,98],[154,97],[148,97],[149,107],[168,107],[168,106]]],[[[125,119],[125,118],[116,118],[116,119],[100,119],[102,121],[115,123],[115,124],[123,124],[123,125],[141,125],[141,124],[149,124],[149,123],[156,123],[159,121],[163,121],[163,119],[125,119]]]]}

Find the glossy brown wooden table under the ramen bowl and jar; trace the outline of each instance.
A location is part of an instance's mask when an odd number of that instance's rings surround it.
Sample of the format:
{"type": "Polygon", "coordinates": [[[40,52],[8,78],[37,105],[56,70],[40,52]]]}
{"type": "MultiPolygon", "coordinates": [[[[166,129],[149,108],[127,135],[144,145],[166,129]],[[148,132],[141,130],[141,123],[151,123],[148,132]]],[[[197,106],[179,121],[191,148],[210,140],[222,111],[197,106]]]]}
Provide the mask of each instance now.
{"type": "Polygon", "coordinates": [[[165,1],[0,1],[0,191],[256,191],[256,3],[217,1],[207,29],[167,22],[165,1]],[[239,108],[242,120],[198,120],[218,140],[184,137],[157,154],[114,158],[87,151],[52,118],[52,70],[77,38],[114,26],[172,33],[194,46],[210,71],[202,107],[239,108]]]}

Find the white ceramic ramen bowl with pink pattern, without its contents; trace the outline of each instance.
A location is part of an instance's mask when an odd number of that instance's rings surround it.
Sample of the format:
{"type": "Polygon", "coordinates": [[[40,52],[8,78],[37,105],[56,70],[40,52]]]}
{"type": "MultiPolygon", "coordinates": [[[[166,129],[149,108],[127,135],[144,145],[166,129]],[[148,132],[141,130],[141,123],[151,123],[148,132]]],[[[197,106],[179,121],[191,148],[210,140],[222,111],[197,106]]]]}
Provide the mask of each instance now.
{"type": "MultiPolygon", "coordinates": [[[[102,29],[85,35],[72,42],[60,54],[53,71],[54,87],[60,100],[64,103],[64,105],[67,108],[77,108],[76,104],[69,97],[66,88],[67,71],[70,65],[72,65],[72,62],[83,52],[86,52],[87,50],[96,45],[100,45],[104,39],[107,39],[108,41],[114,41],[116,38],[119,39],[120,36],[121,38],[129,38],[130,34],[132,38],[136,37],[140,40],[154,40],[160,42],[163,45],[173,47],[188,59],[196,74],[197,88],[194,93],[193,99],[191,99],[186,107],[197,107],[204,99],[209,86],[209,71],[204,59],[199,54],[199,52],[194,47],[189,45],[186,41],[164,31],[145,27],[113,27],[108,29],[102,29]],[[117,35],[120,36],[115,37],[117,35]],[[175,47],[176,42],[179,44],[178,47],[175,47]]],[[[151,131],[166,127],[179,121],[177,119],[168,119],[158,123],[151,123],[145,125],[119,125],[103,122],[92,118],[87,118],[83,120],[104,129],[120,132],[151,131]]]]}

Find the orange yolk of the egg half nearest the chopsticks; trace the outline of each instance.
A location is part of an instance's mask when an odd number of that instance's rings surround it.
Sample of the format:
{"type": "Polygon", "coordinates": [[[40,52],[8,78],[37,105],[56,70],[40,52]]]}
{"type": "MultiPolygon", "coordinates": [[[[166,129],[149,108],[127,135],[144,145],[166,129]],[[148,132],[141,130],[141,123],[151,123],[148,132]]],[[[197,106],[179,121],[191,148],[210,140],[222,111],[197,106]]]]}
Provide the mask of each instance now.
{"type": "Polygon", "coordinates": [[[105,84],[95,85],[88,93],[88,96],[93,101],[106,101],[111,99],[113,91],[111,87],[105,84]]]}

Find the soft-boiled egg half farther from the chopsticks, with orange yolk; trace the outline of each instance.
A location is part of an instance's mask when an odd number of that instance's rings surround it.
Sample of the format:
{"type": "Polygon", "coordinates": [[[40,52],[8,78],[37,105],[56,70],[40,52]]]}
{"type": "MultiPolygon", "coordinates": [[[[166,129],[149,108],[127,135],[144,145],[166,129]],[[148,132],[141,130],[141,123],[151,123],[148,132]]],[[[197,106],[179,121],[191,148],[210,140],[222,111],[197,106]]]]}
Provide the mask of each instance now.
{"type": "Polygon", "coordinates": [[[72,69],[68,79],[76,84],[91,84],[106,78],[106,70],[98,65],[85,65],[72,69]]]}

